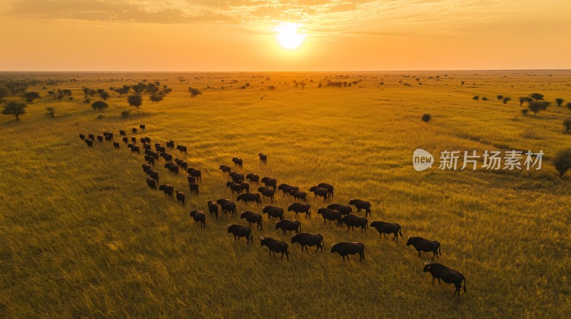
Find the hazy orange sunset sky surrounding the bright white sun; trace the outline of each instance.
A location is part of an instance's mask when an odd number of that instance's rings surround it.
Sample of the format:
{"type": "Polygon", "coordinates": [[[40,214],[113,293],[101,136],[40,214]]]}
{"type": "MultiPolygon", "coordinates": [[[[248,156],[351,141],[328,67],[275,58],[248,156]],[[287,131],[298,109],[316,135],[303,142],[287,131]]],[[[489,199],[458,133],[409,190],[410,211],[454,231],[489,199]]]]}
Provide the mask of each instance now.
{"type": "Polygon", "coordinates": [[[570,14],[571,0],[0,0],[0,70],[562,69],[570,14]]]}

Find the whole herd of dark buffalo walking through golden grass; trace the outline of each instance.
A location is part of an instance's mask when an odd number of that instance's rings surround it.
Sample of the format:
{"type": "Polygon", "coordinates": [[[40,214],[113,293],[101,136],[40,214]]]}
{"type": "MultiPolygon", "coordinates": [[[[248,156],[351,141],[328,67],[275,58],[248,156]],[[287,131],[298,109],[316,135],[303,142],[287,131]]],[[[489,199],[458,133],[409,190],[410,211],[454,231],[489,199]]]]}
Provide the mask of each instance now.
{"type": "MultiPolygon", "coordinates": [[[[136,135],[138,130],[145,132],[146,125],[141,124],[138,129],[137,127],[131,128],[133,135],[136,135]]],[[[146,184],[149,189],[161,191],[166,197],[176,198],[178,204],[181,204],[182,206],[186,205],[186,195],[182,190],[174,189],[171,184],[160,184],[159,173],[153,168],[155,167],[155,164],[159,162],[159,159],[162,158],[165,162],[163,166],[167,172],[174,175],[178,175],[181,169],[183,172],[186,172],[189,194],[198,196],[200,191],[200,185],[198,183],[202,182],[201,170],[189,167],[186,160],[181,160],[176,157],[173,158],[173,155],[168,153],[176,150],[179,155],[187,155],[188,151],[186,146],[175,145],[173,140],[168,140],[165,143],[166,146],[163,146],[160,143],[155,143],[155,150],[153,151],[150,137],[140,137],[137,139],[133,136],[129,139],[126,136],[127,134],[125,130],[119,130],[119,135],[121,135],[121,140],[133,154],[141,154],[141,148],[137,145],[137,142],[140,142],[141,147],[144,150],[143,154],[145,161],[141,164],[141,167],[143,168],[143,172],[148,175],[146,178],[146,184]]],[[[105,140],[107,142],[112,142],[115,150],[121,149],[120,143],[113,140],[113,132],[103,132],[102,135],[98,136],[89,134],[87,137],[84,134],[79,134],[79,137],[81,140],[84,140],[88,147],[94,147],[96,141],[103,144],[103,140],[105,140]]],[[[263,164],[267,164],[268,156],[266,154],[259,153],[258,157],[263,164]]],[[[235,167],[238,167],[239,169],[243,168],[243,160],[241,158],[233,157],[232,162],[235,167]]],[[[299,187],[293,185],[278,184],[278,181],[275,178],[260,178],[258,174],[253,173],[248,173],[244,176],[241,172],[233,172],[232,167],[226,164],[221,164],[218,168],[223,174],[228,174],[228,178],[231,179],[226,182],[226,187],[228,187],[232,194],[236,196],[236,202],[243,201],[244,204],[252,202],[256,206],[259,206],[266,200],[273,203],[273,200],[276,197],[276,191],[283,192],[284,197],[295,199],[297,202],[288,206],[288,212],[293,211],[295,214],[294,220],[285,219],[284,209],[273,205],[263,206],[261,210],[262,214],[267,214],[268,220],[270,221],[271,219],[278,219],[276,222],[276,230],[281,230],[284,235],[287,234],[288,231],[295,233],[291,236],[291,244],[299,244],[301,246],[301,251],[303,251],[303,249],[307,251],[308,246],[315,246],[315,252],[319,250],[323,252],[323,246],[325,246],[323,235],[302,232],[302,224],[297,220],[301,213],[305,214],[305,218],[310,218],[312,213],[311,206],[307,203],[308,196],[306,192],[303,192],[299,187]],[[248,180],[248,182],[246,182],[246,180],[248,180]],[[251,192],[251,184],[256,184],[258,186],[258,192],[251,192]]],[[[313,193],[313,197],[315,199],[319,198],[320,200],[323,198],[323,202],[326,202],[328,199],[333,199],[334,196],[333,185],[326,183],[316,184],[310,187],[308,191],[313,193]]],[[[218,209],[220,208],[220,213],[222,215],[228,216],[229,214],[231,218],[237,217],[236,202],[231,199],[223,198],[216,199],[216,201],[208,201],[208,213],[211,218],[218,219],[218,209]]],[[[252,224],[256,224],[256,230],[258,230],[258,228],[260,231],[263,230],[262,214],[255,213],[253,211],[243,211],[240,214],[240,219],[245,219],[248,222],[248,226],[241,224],[229,224],[228,234],[232,234],[235,241],[241,237],[245,237],[246,245],[250,244],[250,242],[253,243],[251,227],[252,224]]],[[[329,204],[326,207],[319,207],[317,214],[323,217],[323,224],[331,224],[331,221],[333,221],[337,226],[343,227],[343,225],[345,225],[350,230],[357,227],[360,231],[365,232],[367,232],[369,226],[371,226],[378,231],[379,238],[382,236],[385,236],[386,238],[387,234],[393,234],[394,241],[398,241],[398,236],[403,236],[400,225],[397,223],[373,220],[369,224],[367,216],[371,217],[371,205],[370,202],[361,199],[351,199],[348,205],[329,204]],[[355,207],[358,213],[363,211],[365,216],[353,214],[353,207],[355,207]]],[[[206,228],[206,214],[203,211],[192,209],[190,211],[190,217],[199,228],[206,228]]],[[[260,241],[261,246],[268,247],[270,256],[272,253],[274,256],[276,256],[276,253],[281,253],[281,258],[285,255],[285,258],[289,260],[290,252],[288,249],[288,243],[285,241],[274,239],[270,236],[260,236],[260,241]]],[[[433,256],[431,259],[435,257],[438,258],[439,255],[441,256],[440,243],[438,241],[424,239],[422,237],[408,236],[406,246],[411,245],[418,251],[419,257],[421,256],[421,252],[432,252],[433,256]]],[[[343,257],[343,261],[345,261],[345,257],[349,260],[349,255],[355,254],[359,255],[359,261],[365,260],[365,244],[360,242],[333,243],[331,245],[330,252],[338,253],[343,257]]],[[[464,293],[466,292],[465,277],[452,268],[448,268],[440,263],[426,261],[423,272],[429,272],[433,276],[433,283],[434,279],[438,279],[439,283],[440,280],[445,283],[453,283],[456,288],[454,296],[456,293],[460,296],[460,288],[464,288],[464,293]],[[464,286],[462,285],[463,282],[464,286]]]]}

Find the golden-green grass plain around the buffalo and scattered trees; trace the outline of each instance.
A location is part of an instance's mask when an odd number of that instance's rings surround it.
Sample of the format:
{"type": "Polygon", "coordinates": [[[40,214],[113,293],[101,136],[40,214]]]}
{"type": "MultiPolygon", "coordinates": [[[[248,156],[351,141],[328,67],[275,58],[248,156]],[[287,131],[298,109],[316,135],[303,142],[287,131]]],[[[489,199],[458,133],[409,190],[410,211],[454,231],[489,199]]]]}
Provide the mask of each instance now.
{"type": "MultiPolygon", "coordinates": [[[[20,122],[0,117],[0,317],[571,318],[571,173],[560,179],[550,163],[571,147],[561,124],[571,110],[552,103],[522,115],[517,101],[534,92],[571,100],[570,71],[0,74],[8,78],[61,82],[29,88],[42,98],[20,122]],[[337,75],[361,82],[326,87],[337,75]],[[101,113],[81,103],[83,86],[108,90],[141,79],[173,91],[158,103],[144,95],[139,110],[116,93],[101,113]],[[191,98],[189,86],[203,94],[191,98]],[[57,88],[73,90],[74,100],[46,94],[57,88]],[[512,100],[502,105],[498,94],[512,100]],[[55,118],[46,106],[56,108],[55,118]],[[131,115],[121,117],[123,110],[131,115]],[[422,122],[424,113],[433,119],[422,122]],[[172,154],[201,169],[201,193],[193,196],[185,174],[168,173],[162,159],[156,164],[161,184],[184,190],[186,207],[148,189],[142,153],[122,142],[121,150],[109,142],[91,149],[78,137],[111,130],[120,140],[119,129],[140,123],[147,129],[138,137],[186,145],[188,155],[172,154]],[[441,150],[543,150],[545,158],[537,172],[443,171],[438,164],[415,172],[416,148],[437,161],[441,150]],[[243,170],[232,157],[243,158],[243,170]],[[305,192],[328,182],[332,202],[368,200],[373,218],[398,222],[404,237],[323,225],[316,212],[325,204],[310,193],[313,214],[300,217],[302,231],[323,234],[325,253],[290,244],[289,261],[268,256],[260,235],[288,243],[290,235],[266,216],[249,246],[226,231],[245,220],[207,213],[206,229],[198,229],[190,209],[236,199],[220,164],[305,192]],[[418,258],[405,246],[411,234],[440,241],[435,261],[463,273],[467,293],[453,297],[453,285],[430,284],[422,270],[432,254],[418,258]],[[334,241],[362,241],[365,261],[343,262],[329,252],[334,241]]],[[[276,192],[274,204],[287,210],[291,202],[276,192]]],[[[261,208],[240,203],[238,214],[261,208]]]]}

